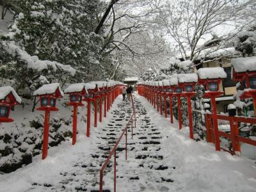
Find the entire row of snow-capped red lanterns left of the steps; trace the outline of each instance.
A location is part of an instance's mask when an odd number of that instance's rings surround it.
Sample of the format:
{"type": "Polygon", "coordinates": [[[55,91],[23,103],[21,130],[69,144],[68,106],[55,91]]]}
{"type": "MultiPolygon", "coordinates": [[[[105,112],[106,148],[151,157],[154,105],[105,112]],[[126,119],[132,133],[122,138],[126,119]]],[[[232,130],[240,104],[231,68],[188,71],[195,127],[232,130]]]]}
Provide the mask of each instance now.
{"type": "MultiPolygon", "coordinates": [[[[76,143],[77,132],[77,108],[84,106],[83,101],[87,102],[87,127],[86,136],[90,136],[90,121],[91,121],[91,103],[94,103],[94,127],[97,127],[97,108],[99,100],[99,122],[102,122],[102,100],[104,99],[104,117],[107,111],[111,108],[114,100],[122,92],[124,85],[118,82],[101,82],[96,81],[92,83],[77,83],[71,84],[65,90],[69,94],[68,106],[73,106],[73,134],[72,145],[76,143]]],[[[40,97],[40,107],[36,108],[38,111],[45,111],[44,120],[44,140],[42,148],[42,159],[47,157],[48,143],[49,143],[49,121],[51,111],[58,111],[56,108],[56,101],[62,98],[64,93],[61,91],[59,83],[44,84],[33,93],[33,96],[40,97]]],[[[13,122],[10,118],[10,109],[14,105],[20,104],[21,99],[19,95],[10,86],[0,88],[0,123],[13,122]]]]}

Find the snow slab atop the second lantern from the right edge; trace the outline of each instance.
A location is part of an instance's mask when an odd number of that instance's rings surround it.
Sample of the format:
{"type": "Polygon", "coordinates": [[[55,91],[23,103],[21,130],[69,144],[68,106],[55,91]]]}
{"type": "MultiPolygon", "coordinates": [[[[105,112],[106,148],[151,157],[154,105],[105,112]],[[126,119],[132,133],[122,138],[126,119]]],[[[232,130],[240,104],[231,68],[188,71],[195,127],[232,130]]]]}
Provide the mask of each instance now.
{"type": "Polygon", "coordinates": [[[200,79],[227,78],[227,74],[222,67],[199,68],[197,74],[200,79]]]}

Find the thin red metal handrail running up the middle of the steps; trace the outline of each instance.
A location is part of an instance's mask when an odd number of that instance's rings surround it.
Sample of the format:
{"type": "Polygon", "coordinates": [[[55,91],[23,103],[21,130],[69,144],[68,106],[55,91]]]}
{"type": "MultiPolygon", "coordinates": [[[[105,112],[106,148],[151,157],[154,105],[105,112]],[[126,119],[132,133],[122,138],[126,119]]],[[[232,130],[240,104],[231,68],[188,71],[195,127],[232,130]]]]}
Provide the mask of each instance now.
{"type": "MultiPolygon", "coordinates": [[[[107,166],[107,164],[109,163],[111,157],[114,154],[114,192],[116,192],[116,148],[120,142],[120,140],[122,139],[122,136],[124,136],[125,134],[125,160],[127,160],[127,128],[129,127],[129,124],[131,123],[131,128],[132,128],[132,118],[134,117],[134,128],[136,128],[136,111],[135,111],[135,107],[134,107],[134,102],[132,99],[132,95],[131,95],[131,100],[132,100],[132,115],[131,118],[129,119],[128,123],[125,125],[124,131],[122,132],[122,134],[120,135],[120,137],[118,138],[118,140],[115,143],[115,146],[112,148],[112,150],[109,152],[109,156],[106,159],[106,161],[104,162],[104,164],[102,165],[102,167],[100,168],[100,192],[102,192],[103,190],[103,172],[107,166]]],[[[133,135],[133,131],[132,131],[132,135],[133,135]]]]}

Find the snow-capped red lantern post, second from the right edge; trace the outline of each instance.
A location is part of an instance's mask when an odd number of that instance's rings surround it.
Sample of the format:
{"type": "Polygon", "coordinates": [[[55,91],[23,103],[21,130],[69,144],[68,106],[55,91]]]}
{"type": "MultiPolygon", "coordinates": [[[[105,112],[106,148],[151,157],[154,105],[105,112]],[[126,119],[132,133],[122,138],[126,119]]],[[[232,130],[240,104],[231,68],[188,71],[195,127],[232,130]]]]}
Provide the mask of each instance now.
{"type": "Polygon", "coordinates": [[[222,67],[200,68],[197,71],[198,83],[205,86],[204,98],[211,99],[212,123],[214,128],[215,149],[220,150],[220,134],[218,130],[218,118],[215,98],[223,94],[220,91],[220,83],[227,77],[222,67]]]}

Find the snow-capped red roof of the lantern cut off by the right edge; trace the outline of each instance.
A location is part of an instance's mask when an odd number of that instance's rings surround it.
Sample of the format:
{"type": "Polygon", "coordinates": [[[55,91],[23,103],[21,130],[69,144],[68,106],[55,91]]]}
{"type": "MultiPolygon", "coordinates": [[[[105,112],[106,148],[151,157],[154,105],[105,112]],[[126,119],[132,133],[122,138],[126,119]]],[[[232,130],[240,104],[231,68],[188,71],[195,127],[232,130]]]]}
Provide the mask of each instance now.
{"type": "Polygon", "coordinates": [[[256,56],[232,59],[231,66],[233,81],[241,81],[245,73],[256,76],[256,56]]]}

